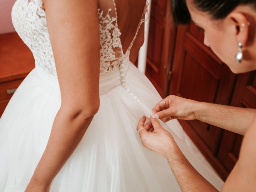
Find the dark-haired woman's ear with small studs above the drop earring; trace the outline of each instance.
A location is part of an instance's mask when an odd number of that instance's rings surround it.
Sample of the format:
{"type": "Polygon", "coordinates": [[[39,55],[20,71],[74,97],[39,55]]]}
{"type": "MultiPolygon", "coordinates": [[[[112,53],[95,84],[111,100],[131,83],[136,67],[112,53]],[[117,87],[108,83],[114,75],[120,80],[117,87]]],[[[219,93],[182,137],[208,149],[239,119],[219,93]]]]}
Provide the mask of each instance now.
{"type": "Polygon", "coordinates": [[[228,15],[228,19],[235,28],[237,43],[241,42],[243,47],[246,46],[250,26],[246,16],[240,12],[233,11],[228,15]]]}

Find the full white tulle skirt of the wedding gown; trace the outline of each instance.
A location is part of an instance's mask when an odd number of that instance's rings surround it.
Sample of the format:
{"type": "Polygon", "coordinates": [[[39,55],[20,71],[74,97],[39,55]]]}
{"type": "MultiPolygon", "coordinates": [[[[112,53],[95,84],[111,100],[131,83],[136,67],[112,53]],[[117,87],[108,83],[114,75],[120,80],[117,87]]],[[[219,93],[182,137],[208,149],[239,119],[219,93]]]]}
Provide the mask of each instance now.
{"type": "MultiPolygon", "coordinates": [[[[100,77],[100,109],[82,141],[54,178],[50,192],[176,192],[180,187],[158,154],[142,146],[136,126],[161,97],[131,62],[126,82],[143,105],[120,85],[119,72],[100,77]]],[[[93,102],[93,101],[92,101],[93,102]]],[[[0,192],[24,192],[45,150],[60,108],[58,79],[36,67],[0,118],[0,192]]],[[[177,120],[163,124],[195,168],[218,190],[208,168],[177,120]]]]}

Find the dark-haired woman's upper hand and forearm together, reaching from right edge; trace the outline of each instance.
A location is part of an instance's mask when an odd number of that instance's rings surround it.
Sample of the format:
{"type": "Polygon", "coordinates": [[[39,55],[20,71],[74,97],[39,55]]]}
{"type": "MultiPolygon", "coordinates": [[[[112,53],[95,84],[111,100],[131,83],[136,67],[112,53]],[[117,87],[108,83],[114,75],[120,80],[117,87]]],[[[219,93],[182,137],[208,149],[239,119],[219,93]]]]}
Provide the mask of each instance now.
{"type": "Polygon", "coordinates": [[[175,95],[164,98],[164,102],[158,102],[152,109],[163,122],[171,119],[200,120],[241,135],[256,116],[256,109],[198,102],[175,95]]]}

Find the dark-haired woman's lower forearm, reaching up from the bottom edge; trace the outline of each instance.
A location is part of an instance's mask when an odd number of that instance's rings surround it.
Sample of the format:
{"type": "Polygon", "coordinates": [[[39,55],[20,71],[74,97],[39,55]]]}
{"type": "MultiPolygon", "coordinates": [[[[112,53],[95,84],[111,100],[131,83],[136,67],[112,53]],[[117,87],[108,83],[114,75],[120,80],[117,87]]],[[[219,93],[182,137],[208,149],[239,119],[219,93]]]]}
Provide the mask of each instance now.
{"type": "Polygon", "coordinates": [[[177,145],[170,148],[167,160],[182,192],[218,191],[197,172],[177,145]]]}

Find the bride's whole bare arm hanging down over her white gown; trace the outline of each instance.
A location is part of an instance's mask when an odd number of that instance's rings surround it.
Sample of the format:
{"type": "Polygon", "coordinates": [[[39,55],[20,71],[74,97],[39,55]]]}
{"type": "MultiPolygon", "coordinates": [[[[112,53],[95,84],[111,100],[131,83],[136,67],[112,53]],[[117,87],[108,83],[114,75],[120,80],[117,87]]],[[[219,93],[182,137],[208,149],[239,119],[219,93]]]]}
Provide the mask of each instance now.
{"type": "Polygon", "coordinates": [[[27,192],[49,190],[100,104],[97,1],[44,0],[44,4],[62,102],[27,192]]]}

